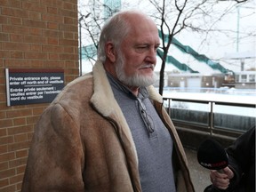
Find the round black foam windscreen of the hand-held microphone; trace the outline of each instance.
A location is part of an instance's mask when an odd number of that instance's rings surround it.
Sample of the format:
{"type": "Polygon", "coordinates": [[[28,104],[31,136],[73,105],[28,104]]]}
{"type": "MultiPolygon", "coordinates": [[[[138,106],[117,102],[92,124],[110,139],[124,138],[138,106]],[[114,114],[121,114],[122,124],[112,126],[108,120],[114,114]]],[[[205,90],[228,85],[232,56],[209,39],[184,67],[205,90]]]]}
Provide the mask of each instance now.
{"type": "Polygon", "coordinates": [[[197,151],[198,163],[210,170],[220,170],[228,166],[228,154],[216,140],[207,139],[197,151]]]}

